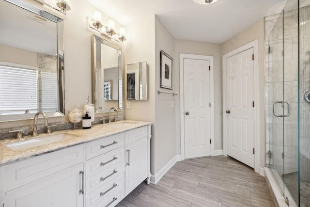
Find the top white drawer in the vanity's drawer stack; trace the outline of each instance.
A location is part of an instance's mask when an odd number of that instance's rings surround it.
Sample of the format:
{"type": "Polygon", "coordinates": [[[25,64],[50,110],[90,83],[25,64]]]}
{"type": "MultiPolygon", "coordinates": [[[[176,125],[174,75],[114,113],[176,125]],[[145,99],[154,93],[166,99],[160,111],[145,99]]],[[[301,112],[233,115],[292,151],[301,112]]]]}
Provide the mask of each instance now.
{"type": "Polygon", "coordinates": [[[92,159],[124,145],[124,133],[86,143],[86,159],[92,159]]]}

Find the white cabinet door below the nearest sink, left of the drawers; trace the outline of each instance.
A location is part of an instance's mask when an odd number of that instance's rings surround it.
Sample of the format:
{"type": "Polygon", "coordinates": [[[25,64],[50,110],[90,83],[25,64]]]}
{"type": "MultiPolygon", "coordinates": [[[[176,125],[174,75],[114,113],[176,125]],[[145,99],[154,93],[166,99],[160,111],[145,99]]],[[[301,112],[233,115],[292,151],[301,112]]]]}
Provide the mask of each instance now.
{"type": "Polygon", "coordinates": [[[83,163],[8,191],[4,207],[83,207],[83,163]]]}

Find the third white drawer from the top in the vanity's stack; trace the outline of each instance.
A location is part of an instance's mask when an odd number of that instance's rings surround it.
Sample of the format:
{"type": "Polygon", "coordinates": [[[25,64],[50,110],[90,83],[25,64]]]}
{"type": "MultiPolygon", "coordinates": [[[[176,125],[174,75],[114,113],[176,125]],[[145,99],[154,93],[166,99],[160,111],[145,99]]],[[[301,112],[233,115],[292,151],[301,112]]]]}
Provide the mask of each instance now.
{"type": "Polygon", "coordinates": [[[97,188],[104,188],[111,180],[119,175],[124,175],[124,162],[116,162],[109,168],[103,169],[99,173],[86,179],[86,194],[92,193],[97,188]]]}

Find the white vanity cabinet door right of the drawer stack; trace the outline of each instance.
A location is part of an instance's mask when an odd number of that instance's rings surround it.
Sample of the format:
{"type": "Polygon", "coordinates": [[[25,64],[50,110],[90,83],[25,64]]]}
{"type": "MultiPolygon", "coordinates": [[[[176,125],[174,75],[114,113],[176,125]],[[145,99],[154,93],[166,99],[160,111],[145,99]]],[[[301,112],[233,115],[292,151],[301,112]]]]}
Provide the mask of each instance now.
{"type": "Polygon", "coordinates": [[[125,147],[125,195],[147,178],[147,138],[125,147]]]}

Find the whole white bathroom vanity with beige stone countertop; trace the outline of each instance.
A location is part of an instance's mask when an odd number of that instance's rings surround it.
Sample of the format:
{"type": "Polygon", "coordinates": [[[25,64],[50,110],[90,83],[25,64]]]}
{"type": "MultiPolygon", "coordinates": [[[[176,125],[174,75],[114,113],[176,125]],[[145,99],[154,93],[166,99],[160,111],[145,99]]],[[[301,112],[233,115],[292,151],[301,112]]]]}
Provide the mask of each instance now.
{"type": "Polygon", "coordinates": [[[25,149],[12,144],[33,138],[1,141],[1,207],[115,206],[143,180],[149,184],[151,123],[123,120],[57,133],[70,136],[25,149]]]}

